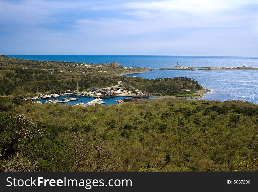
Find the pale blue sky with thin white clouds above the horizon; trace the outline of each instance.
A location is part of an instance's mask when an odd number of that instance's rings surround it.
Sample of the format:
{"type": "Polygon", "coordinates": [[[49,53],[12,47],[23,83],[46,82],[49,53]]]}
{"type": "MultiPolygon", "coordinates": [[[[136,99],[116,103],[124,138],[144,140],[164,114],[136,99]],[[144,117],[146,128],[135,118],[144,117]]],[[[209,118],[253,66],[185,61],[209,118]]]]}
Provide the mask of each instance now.
{"type": "Polygon", "coordinates": [[[4,55],[257,53],[257,0],[0,0],[4,55]]]}

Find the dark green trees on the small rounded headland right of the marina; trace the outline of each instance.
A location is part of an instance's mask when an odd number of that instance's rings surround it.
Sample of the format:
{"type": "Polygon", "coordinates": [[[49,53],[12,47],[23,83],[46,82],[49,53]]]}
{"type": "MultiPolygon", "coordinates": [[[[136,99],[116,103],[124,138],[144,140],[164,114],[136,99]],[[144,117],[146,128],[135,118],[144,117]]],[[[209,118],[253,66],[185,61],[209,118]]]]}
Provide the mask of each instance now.
{"type": "Polygon", "coordinates": [[[141,77],[124,77],[124,86],[162,95],[189,94],[202,90],[200,84],[187,77],[144,79],[141,77]],[[184,91],[182,88],[189,91],[184,91]]]}

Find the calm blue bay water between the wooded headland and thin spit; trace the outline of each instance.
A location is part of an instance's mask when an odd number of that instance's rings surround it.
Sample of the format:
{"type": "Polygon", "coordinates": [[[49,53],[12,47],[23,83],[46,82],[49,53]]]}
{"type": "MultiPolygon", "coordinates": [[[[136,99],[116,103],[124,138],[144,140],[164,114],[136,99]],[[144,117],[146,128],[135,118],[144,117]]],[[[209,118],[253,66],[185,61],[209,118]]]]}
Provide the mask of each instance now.
{"type": "Polygon", "coordinates": [[[236,99],[258,103],[258,71],[251,70],[152,70],[125,76],[156,79],[160,77],[188,77],[198,81],[204,88],[213,91],[202,99],[236,99]]]}

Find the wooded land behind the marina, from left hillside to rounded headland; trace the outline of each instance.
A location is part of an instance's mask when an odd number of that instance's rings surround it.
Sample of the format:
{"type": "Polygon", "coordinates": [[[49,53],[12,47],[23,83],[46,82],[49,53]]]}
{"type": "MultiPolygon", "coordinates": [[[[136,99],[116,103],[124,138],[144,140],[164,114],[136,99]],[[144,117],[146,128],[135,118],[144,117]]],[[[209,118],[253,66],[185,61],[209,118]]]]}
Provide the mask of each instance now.
{"type": "Polygon", "coordinates": [[[89,64],[85,67],[81,64],[22,60],[0,55],[0,95],[77,90],[77,82],[79,89],[103,88],[117,85],[120,80],[123,80],[127,87],[132,85],[143,91],[166,95],[184,93],[178,85],[184,85],[184,88],[190,89],[191,92],[202,89],[198,82],[186,77],[150,80],[119,77],[117,73],[137,72],[143,69],[113,69],[106,64],[89,64]]]}

